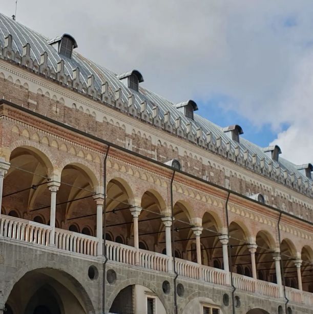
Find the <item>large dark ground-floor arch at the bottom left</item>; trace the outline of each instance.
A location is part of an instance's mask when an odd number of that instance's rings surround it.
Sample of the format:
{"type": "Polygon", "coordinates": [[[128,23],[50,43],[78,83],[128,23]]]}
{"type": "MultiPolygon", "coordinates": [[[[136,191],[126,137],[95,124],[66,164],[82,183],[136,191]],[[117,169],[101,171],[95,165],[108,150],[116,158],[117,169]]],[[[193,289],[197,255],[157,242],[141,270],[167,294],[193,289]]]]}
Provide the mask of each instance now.
{"type": "Polygon", "coordinates": [[[94,313],[84,288],[69,274],[52,268],[24,274],[14,284],[5,307],[10,314],[94,313]]]}

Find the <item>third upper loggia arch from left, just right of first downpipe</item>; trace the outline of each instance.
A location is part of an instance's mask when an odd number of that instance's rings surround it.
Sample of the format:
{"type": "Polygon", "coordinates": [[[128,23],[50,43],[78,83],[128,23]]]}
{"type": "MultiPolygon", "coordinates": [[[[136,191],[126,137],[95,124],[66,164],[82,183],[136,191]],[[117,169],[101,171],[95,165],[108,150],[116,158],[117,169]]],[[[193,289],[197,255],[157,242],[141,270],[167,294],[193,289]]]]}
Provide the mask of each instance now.
{"type": "Polygon", "coordinates": [[[133,245],[133,238],[130,237],[133,224],[130,207],[133,198],[132,190],[126,181],[115,178],[107,184],[106,221],[107,232],[111,235],[111,239],[107,238],[108,241],[124,243],[120,237],[122,235],[124,239],[130,239],[130,245],[133,245]]]}

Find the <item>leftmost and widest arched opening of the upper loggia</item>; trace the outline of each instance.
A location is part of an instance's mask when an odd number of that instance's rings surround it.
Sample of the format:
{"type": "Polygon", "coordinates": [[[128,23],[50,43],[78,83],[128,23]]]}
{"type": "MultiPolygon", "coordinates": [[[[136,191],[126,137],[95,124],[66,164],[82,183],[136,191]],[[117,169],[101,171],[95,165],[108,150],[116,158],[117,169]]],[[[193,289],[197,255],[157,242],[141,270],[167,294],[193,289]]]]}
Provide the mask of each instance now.
{"type": "Polygon", "coordinates": [[[44,224],[50,217],[47,182],[52,172],[51,162],[43,152],[24,146],[11,152],[10,163],[3,184],[2,213],[27,220],[35,217],[44,224]]]}

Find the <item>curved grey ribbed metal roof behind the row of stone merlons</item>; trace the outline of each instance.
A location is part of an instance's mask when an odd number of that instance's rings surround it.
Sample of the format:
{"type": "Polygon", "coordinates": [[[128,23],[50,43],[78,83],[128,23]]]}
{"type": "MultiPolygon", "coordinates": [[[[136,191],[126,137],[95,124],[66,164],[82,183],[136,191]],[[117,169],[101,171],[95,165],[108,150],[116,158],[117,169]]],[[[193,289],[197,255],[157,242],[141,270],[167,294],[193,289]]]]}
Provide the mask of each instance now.
{"type": "MultiPolygon", "coordinates": [[[[211,134],[211,144],[215,145],[217,141],[220,142],[220,148],[223,150],[224,155],[227,153],[236,154],[236,162],[241,165],[244,165],[243,160],[253,160],[256,158],[257,165],[260,161],[264,161],[266,167],[273,166],[273,169],[279,171],[283,176],[285,170],[290,175],[295,173],[296,178],[302,178],[303,181],[307,181],[308,178],[297,169],[297,166],[285,161],[280,158],[279,161],[272,160],[262,148],[257,145],[240,138],[240,143],[235,142],[225,134],[223,128],[215,125],[214,123],[204,119],[203,117],[194,114],[194,120],[187,118],[180,110],[177,108],[177,104],[170,102],[169,100],[164,99],[164,97],[157,95],[156,93],[139,86],[139,91],[134,91],[129,89],[123,82],[120,81],[121,74],[118,75],[105,67],[99,66],[98,64],[88,60],[86,57],[82,56],[75,50],[73,51],[72,57],[67,58],[60,56],[56,49],[49,45],[49,40],[45,36],[27,28],[26,26],[19,24],[13,19],[0,13],[0,44],[2,47],[5,46],[5,37],[9,34],[12,35],[12,49],[14,52],[18,51],[20,55],[23,55],[23,47],[29,43],[30,44],[30,56],[40,64],[41,54],[47,52],[48,54],[48,66],[57,72],[58,62],[62,59],[64,61],[64,72],[71,79],[73,79],[73,70],[79,68],[79,79],[82,84],[88,84],[88,76],[93,74],[94,76],[94,88],[98,90],[98,94],[101,94],[101,86],[103,83],[108,82],[109,85],[109,94],[113,97],[114,92],[118,89],[121,90],[121,97],[124,103],[128,103],[129,95],[134,95],[134,106],[140,112],[141,103],[147,103],[147,112],[148,114],[153,113],[153,108],[158,106],[158,118],[163,120],[164,114],[170,112],[170,119],[172,125],[175,125],[175,120],[181,119],[181,128],[183,131],[186,131],[186,126],[191,126],[191,134],[194,136],[194,139],[197,138],[197,130],[202,129],[202,141],[205,143],[206,134],[211,134]],[[228,149],[228,150],[227,150],[228,149]],[[240,161],[240,162],[239,162],[240,161]],[[279,169],[279,170],[277,170],[279,169]]],[[[135,71],[135,70],[134,70],[135,71]]],[[[136,70],[137,71],[137,70],[136,70]]],[[[137,71],[139,74],[140,72],[137,71]]],[[[124,75],[132,73],[126,72],[124,75]]],[[[141,75],[141,74],[140,74],[141,75]]],[[[142,75],[141,75],[142,77],[142,75]]],[[[142,77],[143,81],[143,77],[142,77]]],[[[184,103],[184,102],[182,102],[184,103]]],[[[208,144],[210,147],[210,144],[208,144]]],[[[206,145],[207,147],[207,145],[206,145]]],[[[216,150],[214,147],[213,150],[216,150]]],[[[229,156],[229,155],[228,155],[229,156]]],[[[235,159],[234,159],[235,160],[235,159]]],[[[250,167],[250,169],[257,171],[255,167],[250,167]]],[[[309,180],[309,184],[312,184],[312,181],[309,180]]],[[[310,192],[311,194],[311,192],[310,192]]]]}

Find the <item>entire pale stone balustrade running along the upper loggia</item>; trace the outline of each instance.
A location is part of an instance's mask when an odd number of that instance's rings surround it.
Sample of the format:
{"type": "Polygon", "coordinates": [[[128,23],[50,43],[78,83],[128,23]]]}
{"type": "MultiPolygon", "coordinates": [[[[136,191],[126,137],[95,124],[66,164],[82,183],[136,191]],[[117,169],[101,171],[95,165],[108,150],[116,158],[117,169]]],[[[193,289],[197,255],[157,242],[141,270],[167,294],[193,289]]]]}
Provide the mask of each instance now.
{"type": "MultiPolygon", "coordinates": [[[[48,246],[51,232],[50,226],[1,215],[0,237],[48,246]]],[[[64,229],[55,229],[55,246],[57,249],[97,256],[97,245],[98,239],[95,237],[64,229]]],[[[139,264],[137,266],[162,272],[168,272],[171,262],[171,259],[164,254],[142,249],[137,251],[134,247],[111,241],[106,241],[106,254],[111,261],[129,265],[136,265],[136,254],[138,254],[139,264]]],[[[177,258],[175,259],[175,266],[179,276],[217,285],[226,285],[227,274],[224,270],[177,258]]],[[[233,283],[238,290],[279,298],[279,287],[274,283],[254,280],[237,273],[233,273],[233,283]]],[[[286,296],[290,302],[313,306],[313,293],[286,287],[286,296]]]]}

